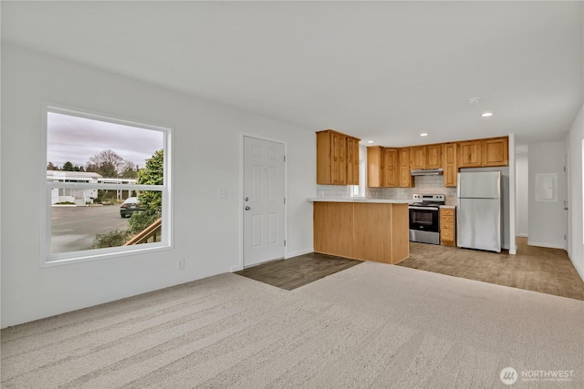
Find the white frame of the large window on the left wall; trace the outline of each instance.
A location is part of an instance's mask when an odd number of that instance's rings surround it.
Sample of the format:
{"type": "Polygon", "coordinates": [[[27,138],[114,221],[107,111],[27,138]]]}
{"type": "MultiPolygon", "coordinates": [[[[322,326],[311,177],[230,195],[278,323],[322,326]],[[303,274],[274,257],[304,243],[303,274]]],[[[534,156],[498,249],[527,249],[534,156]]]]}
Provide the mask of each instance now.
{"type": "Polygon", "coordinates": [[[172,128],[146,124],[124,118],[114,118],[108,115],[90,112],[85,109],[63,107],[51,103],[43,103],[43,136],[41,137],[42,149],[45,153],[42,159],[41,171],[41,258],[40,266],[49,267],[66,265],[86,261],[106,260],[110,258],[140,254],[151,251],[172,250],[172,128]],[[132,184],[98,184],[75,182],[50,182],[47,181],[47,116],[49,112],[63,114],[78,118],[89,118],[124,126],[160,131],[163,134],[164,182],[162,185],[132,185],[132,184]],[[110,247],[105,249],[88,249],[84,251],[70,251],[51,254],[51,189],[124,189],[124,190],[159,190],[162,192],[162,241],[137,244],[133,246],[110,247]]]}

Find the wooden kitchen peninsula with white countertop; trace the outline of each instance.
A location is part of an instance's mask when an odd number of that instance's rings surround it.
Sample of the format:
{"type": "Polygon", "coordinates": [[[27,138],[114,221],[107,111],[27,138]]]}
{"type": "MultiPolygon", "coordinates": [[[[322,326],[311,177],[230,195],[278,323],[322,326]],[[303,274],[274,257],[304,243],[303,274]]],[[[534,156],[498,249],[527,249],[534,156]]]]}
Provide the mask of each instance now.
{"type": "Polygon", "coordinates": [[[408,258],[408,204],[412,200],[308,201],[314,202],[314,251],[384,263],[408,258]]]}

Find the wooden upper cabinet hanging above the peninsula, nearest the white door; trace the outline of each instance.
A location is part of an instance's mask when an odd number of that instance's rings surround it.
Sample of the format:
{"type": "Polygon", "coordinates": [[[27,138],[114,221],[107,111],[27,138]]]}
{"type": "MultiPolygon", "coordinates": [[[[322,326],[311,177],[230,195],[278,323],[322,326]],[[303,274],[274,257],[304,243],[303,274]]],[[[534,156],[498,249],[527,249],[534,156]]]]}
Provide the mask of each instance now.
{"type": "Polygon", "coordinates": [[[332,129],[317,132],[317,184],[359,184],[359,140],[332,129]]]}

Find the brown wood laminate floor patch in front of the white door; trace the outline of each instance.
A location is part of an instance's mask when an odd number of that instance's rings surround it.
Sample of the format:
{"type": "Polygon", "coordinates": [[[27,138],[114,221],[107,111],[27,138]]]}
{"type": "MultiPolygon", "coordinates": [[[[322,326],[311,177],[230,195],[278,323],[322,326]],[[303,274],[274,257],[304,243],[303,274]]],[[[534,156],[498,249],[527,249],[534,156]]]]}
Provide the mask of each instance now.
{"type": "Polygon", "coordinates": [[[262,263],[243,271],[235,271],[235,274],[292,291],[360,263],[357,260],[311,252],[283,261],[262,263]]]}

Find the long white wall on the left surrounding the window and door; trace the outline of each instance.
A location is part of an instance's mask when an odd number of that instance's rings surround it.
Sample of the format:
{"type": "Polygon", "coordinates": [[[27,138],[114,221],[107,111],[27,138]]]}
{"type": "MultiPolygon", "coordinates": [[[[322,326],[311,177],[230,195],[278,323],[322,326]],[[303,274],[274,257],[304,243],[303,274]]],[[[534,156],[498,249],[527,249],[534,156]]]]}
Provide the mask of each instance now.
{"type": "Polygon", "coordinates": [[[312,250],[313,130],[4,43],[2,83],[2,327],[237,266],[240,131],[287,142],[287,252],[312,250]],[[172,250],[39,267],[43,101],[174,128],[172,250]],[[227,189],[227,198],[218,199],[217,189],[227,189]]]}

